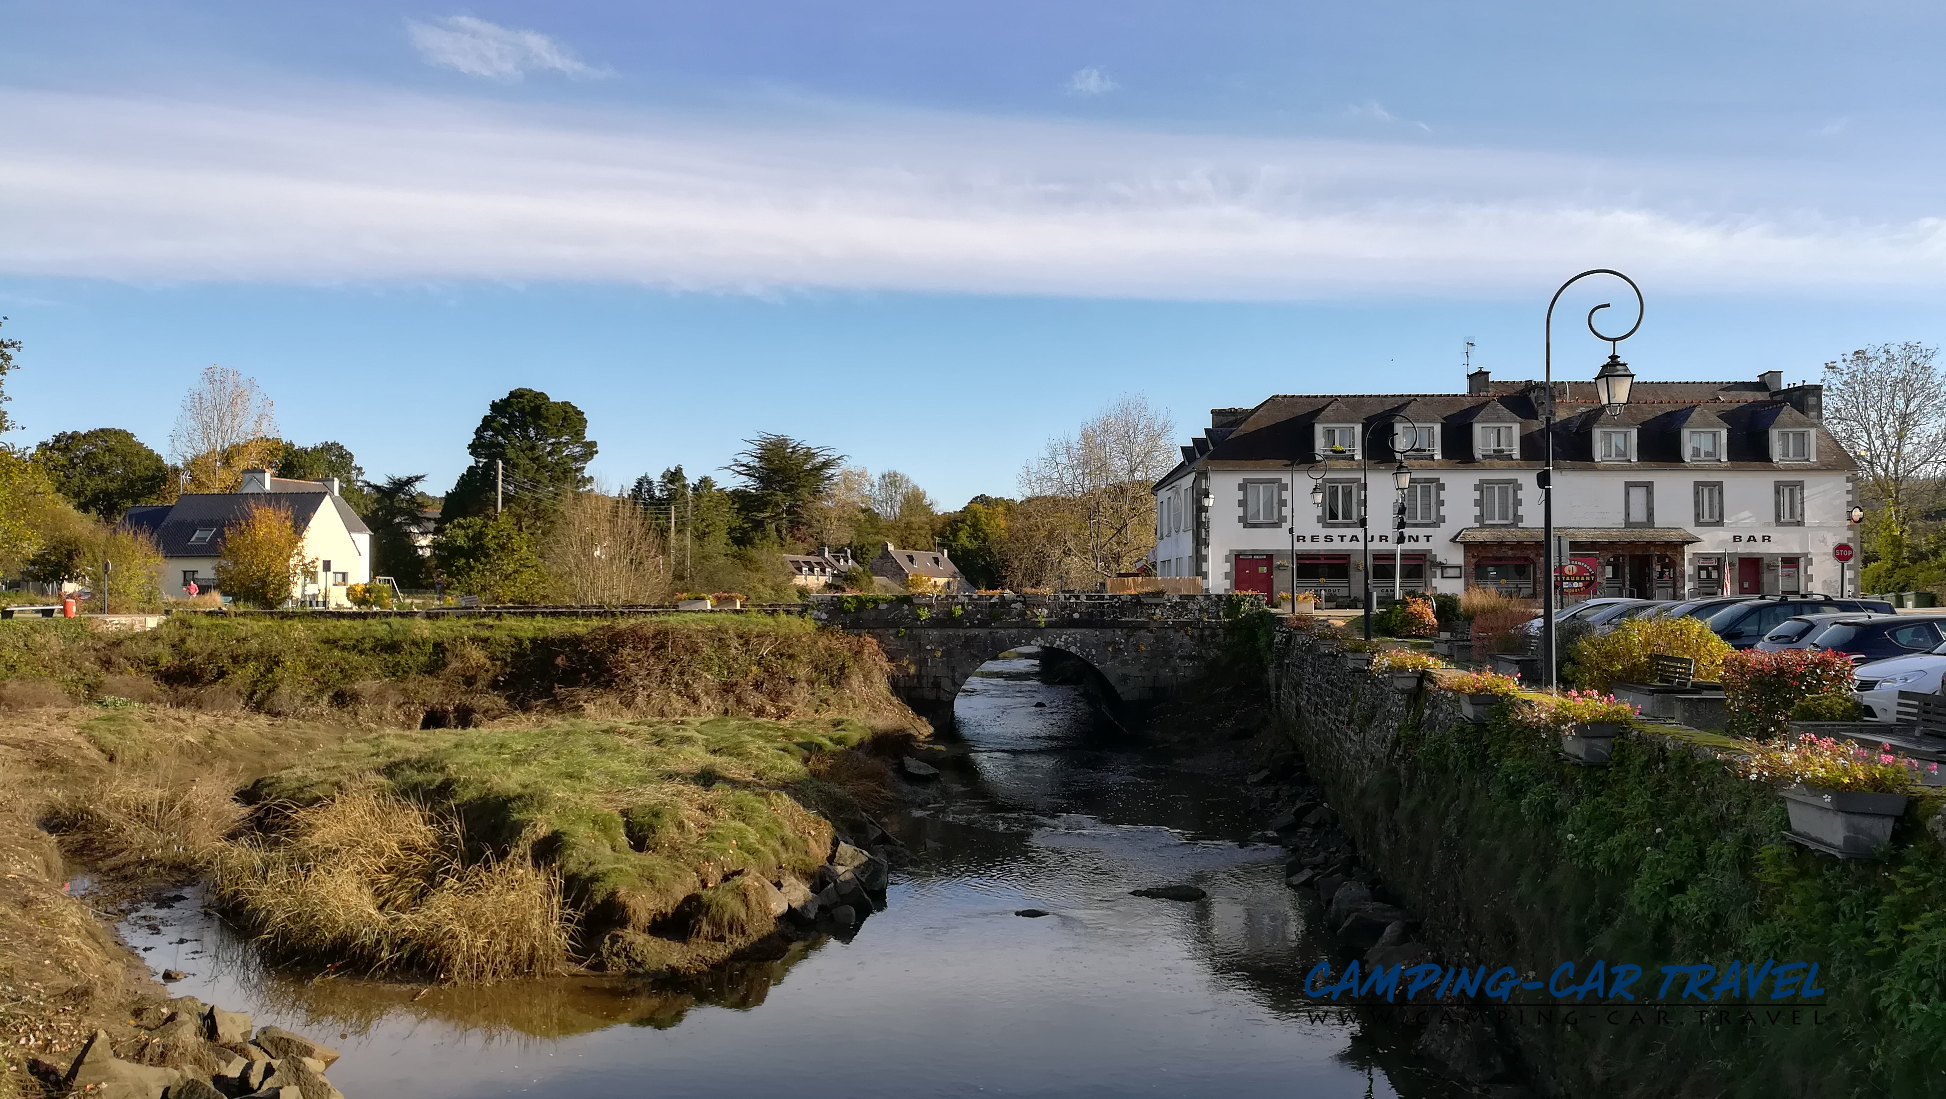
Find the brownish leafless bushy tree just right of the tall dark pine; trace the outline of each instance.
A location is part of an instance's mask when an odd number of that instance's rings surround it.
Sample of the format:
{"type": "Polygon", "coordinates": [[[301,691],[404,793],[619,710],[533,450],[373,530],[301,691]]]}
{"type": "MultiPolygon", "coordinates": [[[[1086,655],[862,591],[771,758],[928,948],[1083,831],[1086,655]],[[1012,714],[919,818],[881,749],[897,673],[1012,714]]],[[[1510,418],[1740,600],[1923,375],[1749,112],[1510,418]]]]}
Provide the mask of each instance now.
{"type": "Polygon", "coordinates": [[[660,603],[671,593],[664,531],[634,500],[576,492],[557,519],[541,560],[562,595],[586,607],[660,603]]]}

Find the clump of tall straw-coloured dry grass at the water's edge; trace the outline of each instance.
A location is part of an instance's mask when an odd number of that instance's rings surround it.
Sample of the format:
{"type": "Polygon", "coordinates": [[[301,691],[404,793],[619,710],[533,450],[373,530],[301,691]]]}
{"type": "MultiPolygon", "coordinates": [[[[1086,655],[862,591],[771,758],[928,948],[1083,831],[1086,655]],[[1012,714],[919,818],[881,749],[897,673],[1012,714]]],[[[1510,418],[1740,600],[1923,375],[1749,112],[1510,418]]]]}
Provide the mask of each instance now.
{"type": "Polygon", "coordinates": [[[284,955],[490,982],[562,973],[560,879],[527,850],[465,862],[451,817],[376,790],[298,809],[216,858],[216,897],[284,955]]]}

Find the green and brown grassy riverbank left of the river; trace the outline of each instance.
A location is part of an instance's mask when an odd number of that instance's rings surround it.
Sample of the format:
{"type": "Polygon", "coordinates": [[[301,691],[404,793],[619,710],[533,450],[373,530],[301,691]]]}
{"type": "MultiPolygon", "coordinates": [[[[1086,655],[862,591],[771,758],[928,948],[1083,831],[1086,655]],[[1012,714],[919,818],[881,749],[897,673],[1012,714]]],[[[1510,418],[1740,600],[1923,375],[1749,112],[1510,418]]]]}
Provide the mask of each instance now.
{"type": "Polygon", "coordinates": [[[356,969],[695,969],[823,862],[813,809],[883,796],[858,745],[922,731],[874,644],[798,619],[0,622],[8,1068],[162,996],[82,868],[212,877],[356,969]]]}

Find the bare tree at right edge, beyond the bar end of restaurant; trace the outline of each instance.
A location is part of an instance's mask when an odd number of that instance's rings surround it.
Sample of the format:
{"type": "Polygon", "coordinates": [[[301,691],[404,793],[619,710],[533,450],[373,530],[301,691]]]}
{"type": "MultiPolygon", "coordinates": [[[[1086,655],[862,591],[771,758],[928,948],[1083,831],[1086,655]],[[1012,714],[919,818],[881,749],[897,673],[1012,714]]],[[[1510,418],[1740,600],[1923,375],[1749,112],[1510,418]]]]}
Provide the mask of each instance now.
{"type": "Polygon", "coordinates": [[[1936,354],[1915,342],[1874,344],[1825,364],[1825,426],[1884,502],[1880,533],[1892,552],[1882,556],[1903,558],[1913,496],[1946,471],[1946,373],[1936,354]]]}

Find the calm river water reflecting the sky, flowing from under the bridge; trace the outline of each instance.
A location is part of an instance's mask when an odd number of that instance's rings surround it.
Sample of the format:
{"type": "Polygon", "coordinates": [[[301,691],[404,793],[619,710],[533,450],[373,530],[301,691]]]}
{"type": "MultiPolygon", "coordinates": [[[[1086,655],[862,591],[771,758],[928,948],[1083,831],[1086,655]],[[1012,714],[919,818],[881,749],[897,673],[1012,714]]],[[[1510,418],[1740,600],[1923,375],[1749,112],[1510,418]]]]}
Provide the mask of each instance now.
{"type": "MultiPolygon", "coordinates": [[[[850,941],[683,990],[455,990],[280,973],[191,893],[123,924],[171,988],[337,1045],[350,1099],[492,1095],[1456,1095],[1298,992],[1323,957],[1234,780],[1101,724],[1031,654],[989,663],[940,737],[917,854],[850,941]],[[1131,897],[1193,883],[1207,901],[1131,897]],[[1024,918],[1020,908],[1047,916],[1024,918]]],[[[928,757],[932,759],[932,757],[928,757]]]]}

